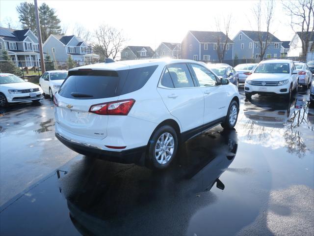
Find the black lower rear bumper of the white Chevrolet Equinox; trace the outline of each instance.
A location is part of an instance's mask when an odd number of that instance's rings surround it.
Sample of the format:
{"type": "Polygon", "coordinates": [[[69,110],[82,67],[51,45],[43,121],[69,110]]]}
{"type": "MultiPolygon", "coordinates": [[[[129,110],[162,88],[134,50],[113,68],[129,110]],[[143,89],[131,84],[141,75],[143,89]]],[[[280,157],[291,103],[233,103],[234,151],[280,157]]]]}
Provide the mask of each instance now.
{"type": "Polygon", "coordinates": [[[55,132],[55,137],[68,148],[86,156],[93,156],[99,159],[119,162],[119,163],[138,163],[145,158],[146,146],[132,148],[121,151],[109,151],[96,146],[79,143],[63,137],[55,132]]]}

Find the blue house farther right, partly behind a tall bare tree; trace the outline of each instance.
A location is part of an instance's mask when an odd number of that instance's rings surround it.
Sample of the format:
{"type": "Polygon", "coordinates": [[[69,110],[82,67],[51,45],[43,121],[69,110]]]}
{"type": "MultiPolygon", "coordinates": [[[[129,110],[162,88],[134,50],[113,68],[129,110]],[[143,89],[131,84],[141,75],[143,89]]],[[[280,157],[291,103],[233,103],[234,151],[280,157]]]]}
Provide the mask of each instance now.
{"type": "MultiPolygon", "coordinates": [[[[273,34],[268,33],[264,58],[279,58],[282,42],[273,34]]],[[[261,32],[262,40],[266,41],[267,32],[261,32]]],[[[238,59],[261,58],[261,45],[259,42],[259,31],[240,30],[234,37],[234,57],[238,59]]],[[[263,42],[265,47],[265,42],[263,42]]]]}

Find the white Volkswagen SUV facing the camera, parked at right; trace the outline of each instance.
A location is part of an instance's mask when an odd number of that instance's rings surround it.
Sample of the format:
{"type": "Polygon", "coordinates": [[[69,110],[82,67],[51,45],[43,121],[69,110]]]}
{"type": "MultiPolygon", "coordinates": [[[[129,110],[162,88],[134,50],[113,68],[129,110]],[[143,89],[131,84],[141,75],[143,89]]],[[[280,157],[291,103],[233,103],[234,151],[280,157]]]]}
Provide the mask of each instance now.
{"type": "Polygon", "coordinates": [[[291,99],[296,90],[298,71],[292,60],[265,59],[245,81],[245,96],[250,99],[253,94],[284,95],[291,99]]]}

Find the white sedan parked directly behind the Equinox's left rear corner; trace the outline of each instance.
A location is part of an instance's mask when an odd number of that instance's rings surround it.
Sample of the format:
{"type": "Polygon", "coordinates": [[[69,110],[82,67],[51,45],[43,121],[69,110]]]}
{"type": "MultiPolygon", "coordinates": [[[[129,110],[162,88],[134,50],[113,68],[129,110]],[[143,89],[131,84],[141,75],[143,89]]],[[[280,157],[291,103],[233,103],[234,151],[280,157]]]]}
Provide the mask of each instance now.
{"type": "Polygon", "coordinates": [[[59,90],[65,78],[68,76],[66,70],[50,70],[45,72],[39,79],[39,86],[50,98],[59,90]]]}

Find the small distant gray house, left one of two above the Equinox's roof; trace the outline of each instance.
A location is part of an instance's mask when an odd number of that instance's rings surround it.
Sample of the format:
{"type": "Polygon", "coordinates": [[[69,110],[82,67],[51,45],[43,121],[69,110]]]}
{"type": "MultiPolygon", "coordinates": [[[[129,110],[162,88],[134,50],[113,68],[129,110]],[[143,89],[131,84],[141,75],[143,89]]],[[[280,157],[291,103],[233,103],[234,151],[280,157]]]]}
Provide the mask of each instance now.
{"type": "Polygon", "coordinates": [[[127,46],[121,51],[121,60],[151,59],[154,50],[148,46],[127,46]]]}

